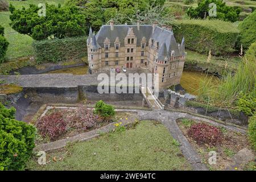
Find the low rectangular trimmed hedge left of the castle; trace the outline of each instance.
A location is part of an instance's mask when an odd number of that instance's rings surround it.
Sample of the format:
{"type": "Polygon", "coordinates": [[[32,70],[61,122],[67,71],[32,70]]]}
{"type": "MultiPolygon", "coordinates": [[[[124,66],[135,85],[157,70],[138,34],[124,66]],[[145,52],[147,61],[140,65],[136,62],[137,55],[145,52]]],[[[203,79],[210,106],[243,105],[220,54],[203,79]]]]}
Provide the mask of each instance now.
{"type": "Polygon", "coordinates": [[[80,59],[87,55],[86,36],[40,40],[32,43],[37,63],[80,59]]]}

